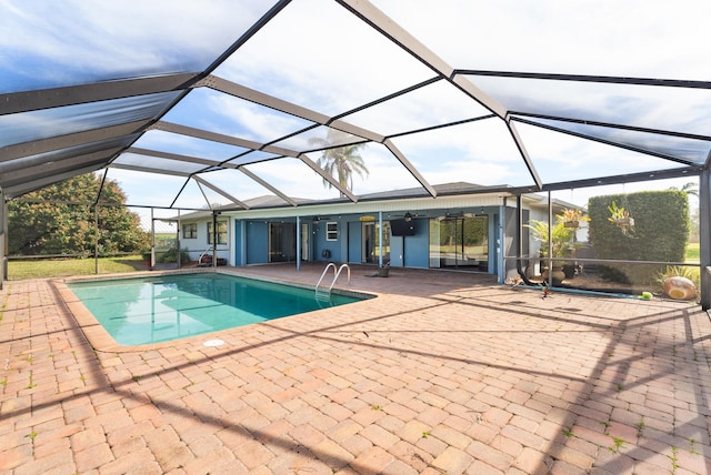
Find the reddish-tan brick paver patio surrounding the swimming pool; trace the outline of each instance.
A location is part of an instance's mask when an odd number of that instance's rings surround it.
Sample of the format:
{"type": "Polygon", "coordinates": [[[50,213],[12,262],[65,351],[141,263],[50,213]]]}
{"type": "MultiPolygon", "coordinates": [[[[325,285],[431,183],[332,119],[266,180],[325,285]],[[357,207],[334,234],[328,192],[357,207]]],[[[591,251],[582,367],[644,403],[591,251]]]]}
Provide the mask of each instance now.
{"type": "MultiPolygon", "coordinates": [[[[322,267],[236,272],[313,285],[322,267]]],[[[0,472],[708,474],[699,306],[392,270],[378,299],[101,351],[50,281],[0,291],[0,472]]]]}

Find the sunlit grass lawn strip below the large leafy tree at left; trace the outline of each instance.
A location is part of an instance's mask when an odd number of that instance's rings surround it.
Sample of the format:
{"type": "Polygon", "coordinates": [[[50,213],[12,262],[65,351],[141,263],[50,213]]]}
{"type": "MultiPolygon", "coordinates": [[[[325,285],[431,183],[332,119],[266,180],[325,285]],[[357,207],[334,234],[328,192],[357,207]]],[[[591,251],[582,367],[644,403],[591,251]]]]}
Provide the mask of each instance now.
{"type": "MultiPolygon", "coordinates": [[[[112,274],[144,271],[146,265],[140,255],[122,255],[120,257],[100,257],[99,273],[112,274]]],[[[96,273],[96,262],[91,259],[28,260],[9,261],[8,280],[66,277],[70,275],[91,275],[96,273]]]]}

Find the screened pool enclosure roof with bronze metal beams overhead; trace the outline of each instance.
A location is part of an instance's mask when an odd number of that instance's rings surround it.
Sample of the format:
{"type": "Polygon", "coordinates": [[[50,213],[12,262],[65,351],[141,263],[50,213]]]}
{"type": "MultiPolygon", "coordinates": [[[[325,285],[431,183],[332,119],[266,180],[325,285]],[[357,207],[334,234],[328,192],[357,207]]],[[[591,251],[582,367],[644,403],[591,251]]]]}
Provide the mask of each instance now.
{"type": "Polygon", "coordinates": [[[104,170],[130,205],[247,209],[695,175],[711,151],[710,13],[703,0],[7,0],[0,188],[104,170]],[[319,163],[344,145],[362,145],[352,185],[319,163]]]}

